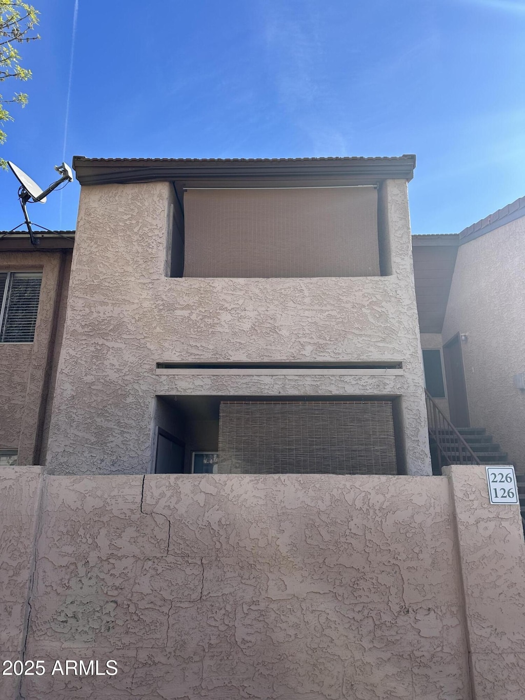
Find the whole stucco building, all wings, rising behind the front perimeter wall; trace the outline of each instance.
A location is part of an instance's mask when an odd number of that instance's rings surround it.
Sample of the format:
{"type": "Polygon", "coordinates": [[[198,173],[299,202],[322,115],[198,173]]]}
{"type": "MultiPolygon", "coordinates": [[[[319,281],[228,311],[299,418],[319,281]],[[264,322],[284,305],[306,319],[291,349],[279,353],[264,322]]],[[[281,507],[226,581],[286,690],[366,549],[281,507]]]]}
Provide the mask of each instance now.
{"type": "Polygon", "coordinates": [[[422,348],[478,461],[523,470],[524,201],[411,237],[414,165],[76,158],[76,234],[0,239],[0,459],[429,474],[422,348]]]}

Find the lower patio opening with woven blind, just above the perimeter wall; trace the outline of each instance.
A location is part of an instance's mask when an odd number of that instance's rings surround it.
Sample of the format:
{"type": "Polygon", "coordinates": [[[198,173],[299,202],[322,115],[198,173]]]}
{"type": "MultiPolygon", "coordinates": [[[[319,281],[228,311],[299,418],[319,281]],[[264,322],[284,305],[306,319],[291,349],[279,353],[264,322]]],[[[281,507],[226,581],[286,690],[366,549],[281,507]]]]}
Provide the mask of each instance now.
{"type": "Polygon", "coordinates": [[[400,398],[156,398],[155,473],[405,473],[400,398]]]}

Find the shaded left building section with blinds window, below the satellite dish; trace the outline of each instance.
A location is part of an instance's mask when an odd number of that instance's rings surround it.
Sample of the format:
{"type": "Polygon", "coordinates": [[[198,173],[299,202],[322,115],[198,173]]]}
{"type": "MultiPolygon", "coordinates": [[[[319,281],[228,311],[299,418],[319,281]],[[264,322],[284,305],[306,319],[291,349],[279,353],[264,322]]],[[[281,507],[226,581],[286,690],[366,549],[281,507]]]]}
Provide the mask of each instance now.
{"type": "Polygon", "coordinates": [[[0,231],[0,465],[45,458],[74,237],[0,231]]]}

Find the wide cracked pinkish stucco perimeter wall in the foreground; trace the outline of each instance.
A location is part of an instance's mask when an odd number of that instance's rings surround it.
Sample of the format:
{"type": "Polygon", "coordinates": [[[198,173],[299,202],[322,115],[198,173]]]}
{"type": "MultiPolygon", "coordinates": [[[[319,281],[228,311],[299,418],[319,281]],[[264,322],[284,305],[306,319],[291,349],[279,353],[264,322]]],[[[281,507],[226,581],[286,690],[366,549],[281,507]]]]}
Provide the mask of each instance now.
{"type": "MultiPolygon", "coordinates": [[[[28,478],[0,472],[0,503],[28,478]]],[[[43,482],[27,640],[6,617],[2,651],[120,671],[28,677],[23,696],[472,700],[446,477],[43,482]]]]}

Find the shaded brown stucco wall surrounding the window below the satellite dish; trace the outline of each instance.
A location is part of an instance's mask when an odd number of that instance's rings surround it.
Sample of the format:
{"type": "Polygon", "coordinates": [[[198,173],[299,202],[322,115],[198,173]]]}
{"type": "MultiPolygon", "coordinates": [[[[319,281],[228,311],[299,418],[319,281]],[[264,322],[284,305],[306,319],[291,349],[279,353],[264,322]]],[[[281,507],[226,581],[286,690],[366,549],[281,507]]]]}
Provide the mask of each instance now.
{"type": "Polygon", "coordinates": [[[43,272],[34,342],[0,343],[0,448],[18,449],[18,463],[33,464],[45,410],[62,253],[1,252],[0,269],[43,272]]]}

